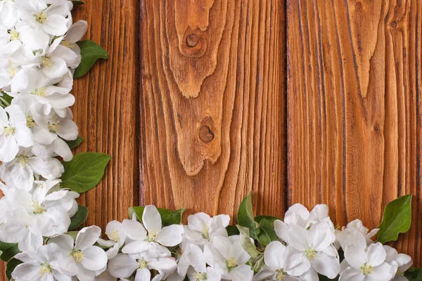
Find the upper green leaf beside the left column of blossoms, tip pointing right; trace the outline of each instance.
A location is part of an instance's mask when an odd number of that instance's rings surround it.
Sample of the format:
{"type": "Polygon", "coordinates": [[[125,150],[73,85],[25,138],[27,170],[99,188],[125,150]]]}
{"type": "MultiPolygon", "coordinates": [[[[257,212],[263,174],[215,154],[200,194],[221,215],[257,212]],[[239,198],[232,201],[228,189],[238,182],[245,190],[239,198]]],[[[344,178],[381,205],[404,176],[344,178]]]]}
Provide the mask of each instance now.
{"type": "Polygon", "coordinates": [[[77,42],[81,49],[81,63],[75,70],[73,77],[79,78],[87,74],[98,58],[108,59],[108,53],[101,46],[91,40],[77,42]]]}

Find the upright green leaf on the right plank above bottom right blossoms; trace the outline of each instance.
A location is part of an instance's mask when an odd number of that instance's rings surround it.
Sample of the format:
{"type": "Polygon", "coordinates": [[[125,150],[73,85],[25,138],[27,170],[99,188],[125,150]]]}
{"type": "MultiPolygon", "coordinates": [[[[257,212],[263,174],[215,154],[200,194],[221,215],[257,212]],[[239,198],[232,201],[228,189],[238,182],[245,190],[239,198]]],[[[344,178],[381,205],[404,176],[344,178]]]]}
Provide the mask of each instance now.
{"type": "Polygon", "coordinates": [[[385,206],[383,221],[378,228],[378,242],[396,241],[411,225],[411,195],[404,195],[385,206]]]}

